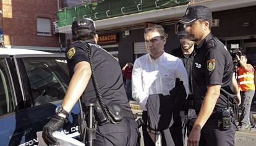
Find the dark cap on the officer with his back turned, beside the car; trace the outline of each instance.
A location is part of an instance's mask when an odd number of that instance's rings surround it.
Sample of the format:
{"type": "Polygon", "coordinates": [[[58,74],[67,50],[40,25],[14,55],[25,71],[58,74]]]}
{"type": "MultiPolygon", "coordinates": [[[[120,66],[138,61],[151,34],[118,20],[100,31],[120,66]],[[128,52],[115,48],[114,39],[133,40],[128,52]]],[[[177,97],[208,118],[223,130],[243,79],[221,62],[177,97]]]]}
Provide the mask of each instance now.
{"type": "Polygon", "coordinates": [[[71,26],[72,35],[77,33],[95,33],[95,23],[90,18],[75,20],[71,26]]]}

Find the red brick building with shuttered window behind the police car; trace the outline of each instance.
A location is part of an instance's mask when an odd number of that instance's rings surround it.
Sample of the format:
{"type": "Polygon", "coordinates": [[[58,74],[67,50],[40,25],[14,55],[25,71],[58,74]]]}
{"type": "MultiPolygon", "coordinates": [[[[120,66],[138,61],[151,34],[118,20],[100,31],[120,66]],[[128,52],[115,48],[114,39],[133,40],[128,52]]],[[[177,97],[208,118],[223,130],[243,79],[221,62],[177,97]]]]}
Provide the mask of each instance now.
{"type": "Polygon", "coordinates": [[[56,11],[61,0],[2,0],[1,30],[4,46],[45,51],[61,49],[61,34],[54,32],[56,11]]]}

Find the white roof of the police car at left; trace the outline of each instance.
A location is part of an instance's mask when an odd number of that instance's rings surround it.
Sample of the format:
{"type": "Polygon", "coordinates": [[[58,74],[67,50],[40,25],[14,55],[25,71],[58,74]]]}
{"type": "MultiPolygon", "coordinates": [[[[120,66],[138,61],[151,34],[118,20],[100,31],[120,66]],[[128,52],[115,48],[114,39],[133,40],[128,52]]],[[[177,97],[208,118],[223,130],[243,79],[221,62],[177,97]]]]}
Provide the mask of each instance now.
{"type": "Polygon", "coordinates": [[[0,55],[27,55],[27,54],[53,54],[50,52],[35,51],[28,49],[7,49],[0,48],[0,55]]]}

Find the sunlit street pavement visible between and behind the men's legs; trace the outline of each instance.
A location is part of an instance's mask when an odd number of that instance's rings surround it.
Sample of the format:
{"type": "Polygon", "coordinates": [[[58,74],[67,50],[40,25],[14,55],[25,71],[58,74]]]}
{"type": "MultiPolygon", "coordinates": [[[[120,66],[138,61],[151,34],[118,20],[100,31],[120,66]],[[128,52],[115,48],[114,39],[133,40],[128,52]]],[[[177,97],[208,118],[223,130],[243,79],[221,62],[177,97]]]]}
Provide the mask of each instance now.
{"type": "MultiPolygon", "coordinates": [[[[130,101],[130,107],[137,118],[140,118],[142,111],[140,110],[139,104],[135,101],[130,101]]],[[[256,122],[256,101],[252,103],[251,112],[254,114],[254,121],[256,122]]],[[[142,128],[139,129],[142,136],[142,128]]],[[[187,137],[186,140],[187,141],[187,137]]],[[[185,145],[187,142],[185,143],[185,145]]],[[[143,144],[143,137],[140,139],[140,145],[143,144]]],[[[235,146],[255,146],[256,145],[256,128],[252,128],[251,131],[236,131],[235,134],[235,146]]]]}

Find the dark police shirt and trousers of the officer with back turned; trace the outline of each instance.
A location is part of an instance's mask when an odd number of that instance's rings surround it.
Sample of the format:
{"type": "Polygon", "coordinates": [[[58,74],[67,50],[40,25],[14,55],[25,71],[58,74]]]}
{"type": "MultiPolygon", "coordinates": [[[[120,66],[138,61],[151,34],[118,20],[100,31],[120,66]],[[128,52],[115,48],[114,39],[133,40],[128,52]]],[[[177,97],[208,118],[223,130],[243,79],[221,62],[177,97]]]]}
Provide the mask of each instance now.
{"type": "MultiPolygon", "coordinates": [[[[132,113],[129,100],[126,97],[119,63],[108,52],[96,45],[94,41],[88,40],[85,42],[89,44],[91,49],[96,81],[105,104],[117,103],[122,110],[132,113]]],[[[77,63],[81,61],[89,62],[87,50],[78,41],[70,45],[66,51],[66,57],[71,76],[77,63]]],[[[85,108],[85,103],[94,103],[96,99],[95,88],[92,79],[90,79],[81,99],[83,108],[85,108]]],[[[97,126],[94,145],[134,146],[137,143],[138,133],[134,118],[123,115],[122,122],[119,124],[109,122],[103,126],[97,126]]]]}

